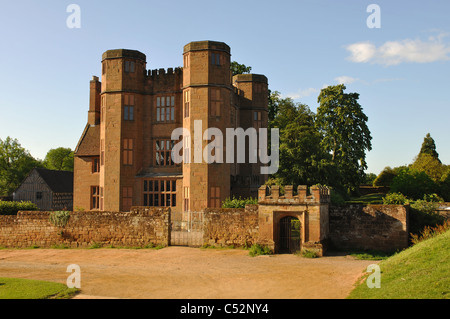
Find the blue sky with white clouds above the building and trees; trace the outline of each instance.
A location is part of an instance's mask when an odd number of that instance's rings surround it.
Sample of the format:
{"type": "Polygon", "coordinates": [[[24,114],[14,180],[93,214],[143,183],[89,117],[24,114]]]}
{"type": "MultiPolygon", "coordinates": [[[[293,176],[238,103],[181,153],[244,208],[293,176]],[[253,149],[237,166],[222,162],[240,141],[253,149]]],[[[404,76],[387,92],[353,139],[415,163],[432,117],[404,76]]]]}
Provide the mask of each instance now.
{"type": "Polygon", "coordinates": [[[0,138],[43,159],[75,148],[101,55],[127,48],[147,68],[182,65],[183,46],[215,40],[271,90],[317,108],[325,85],[358,92],[369,117],[368,172],[409,164],[427,133],[450,164],[450,1],[2,1],[0,138]],[[70,29],[69,4],[81,8],[70,29]],[[381,8],[370,29],[369,4],[381,8]]]}

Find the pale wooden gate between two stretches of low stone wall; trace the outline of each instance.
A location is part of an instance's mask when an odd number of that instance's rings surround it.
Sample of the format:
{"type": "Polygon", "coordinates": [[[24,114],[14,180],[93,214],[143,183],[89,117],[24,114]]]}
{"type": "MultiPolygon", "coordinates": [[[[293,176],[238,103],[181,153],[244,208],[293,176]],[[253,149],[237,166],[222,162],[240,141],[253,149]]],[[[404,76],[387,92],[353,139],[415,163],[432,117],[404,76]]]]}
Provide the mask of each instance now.
{"type": "Polygon", "coordinates": [[[172,212],[170,245],[201,247],[203,245],[203,212],[172,212]]]}

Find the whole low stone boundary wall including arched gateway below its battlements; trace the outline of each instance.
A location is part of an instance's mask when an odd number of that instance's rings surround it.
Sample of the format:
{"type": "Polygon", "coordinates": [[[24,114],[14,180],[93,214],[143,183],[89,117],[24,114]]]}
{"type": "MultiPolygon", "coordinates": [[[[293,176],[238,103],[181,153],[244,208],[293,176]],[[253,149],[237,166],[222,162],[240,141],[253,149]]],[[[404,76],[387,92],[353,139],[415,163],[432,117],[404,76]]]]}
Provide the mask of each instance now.
{"type": "MultiPolygon", "coordinates": [[[[279,252],[280,221],[298,218],[301,249],[319,255],[329,248],[395,251],[408,247],[408,207],[398,205],[248,205],[244,208],[208,208],[196,213],[203,232],[203,244],[211,246],[269,246],[279,252]],[[320,209],[322,207],[322,210],[320,209]],[[329,211],[329,224],[323,222],[329,211]],[[329,227],[329,229],[324,229],[329,227]],[[330,246],[327,247],[327,244],[330,246]]],[[[169,245],[174,227],[170,208],[133,207],[130,213],[70,212],[63,228],[52,225],[50,212],[19,212],[0,215],[0,247],[42,248],[66,245],[143,247],[169,245]]],[[[200,244],[201,246],[201,244],[200,244]]]]}

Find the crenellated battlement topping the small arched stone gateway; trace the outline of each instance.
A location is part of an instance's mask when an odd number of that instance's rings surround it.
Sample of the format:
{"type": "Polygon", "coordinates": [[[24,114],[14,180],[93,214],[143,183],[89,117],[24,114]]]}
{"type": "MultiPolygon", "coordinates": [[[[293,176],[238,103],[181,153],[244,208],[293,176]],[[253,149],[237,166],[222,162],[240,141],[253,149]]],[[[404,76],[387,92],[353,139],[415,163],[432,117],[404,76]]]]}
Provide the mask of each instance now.
{"type": "Polygon", "coordinates": [[[308,187],[299,185],[297,195],[294,196],[294,187],[292,185],[284,186],[284,196],[280,196],[280,186],[274,185],[270,188],[263,185],[258,190],[259,204],[326,204],[330,203],[330,189],[325,186],[310,187],[310,195],[307,194],[308,187]]]}

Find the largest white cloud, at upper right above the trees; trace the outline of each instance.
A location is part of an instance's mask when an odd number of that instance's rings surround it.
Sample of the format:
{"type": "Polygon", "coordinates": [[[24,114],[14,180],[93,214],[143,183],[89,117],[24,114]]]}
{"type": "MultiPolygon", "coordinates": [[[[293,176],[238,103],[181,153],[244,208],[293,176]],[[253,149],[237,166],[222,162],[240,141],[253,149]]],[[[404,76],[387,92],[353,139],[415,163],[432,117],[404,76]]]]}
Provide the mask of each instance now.
{"type": "Polygon", "coordinates": [[[370,42],[359,42],[346,46],[350,52],[349,60],[356,63],[375,63],[397,65],[400,63],[431,63],[450,60],[450,44],[442,42],[447,35],[441,33],[420,39],[387,41],[378,48],[370,42]]]}

